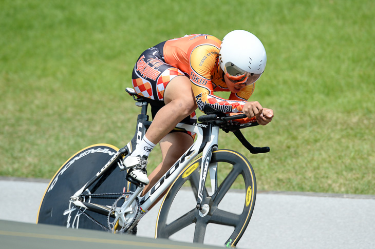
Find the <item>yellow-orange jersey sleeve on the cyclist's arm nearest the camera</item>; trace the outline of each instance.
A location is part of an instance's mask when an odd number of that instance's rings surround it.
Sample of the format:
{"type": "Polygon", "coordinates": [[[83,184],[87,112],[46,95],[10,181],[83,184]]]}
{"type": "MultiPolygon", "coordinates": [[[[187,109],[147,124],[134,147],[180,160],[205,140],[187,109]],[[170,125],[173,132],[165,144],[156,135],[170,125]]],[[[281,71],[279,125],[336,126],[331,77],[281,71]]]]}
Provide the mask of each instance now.
{"type": "MultiPolygon", "coordinates": [[[[219,48],[212,44],[199,44],[190,54],[190,80],[198,108],[203,111],[206,105],[223,112],[237,113],[247,102],[246,95],[242,97],[231,95],[230,99],[214,95],[211,75],[215,70],[219,48]]],[[[250,97],[250,96],[249,96],[250,97]]]]}

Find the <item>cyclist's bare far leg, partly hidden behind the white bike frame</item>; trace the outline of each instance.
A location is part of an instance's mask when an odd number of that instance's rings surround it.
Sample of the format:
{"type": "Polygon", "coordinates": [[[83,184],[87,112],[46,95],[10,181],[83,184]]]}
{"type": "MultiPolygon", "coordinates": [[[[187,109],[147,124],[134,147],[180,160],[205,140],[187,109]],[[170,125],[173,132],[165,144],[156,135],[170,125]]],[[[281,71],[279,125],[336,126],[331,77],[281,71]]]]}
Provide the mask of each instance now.
{"type": "MultiPolygon", "coordinates": [[[[156,169],[149,174],[150,183],[145,186],[142,195],[146,194],[158,180],[172,167],[180,156],[193,144],[193,138],[184,132],[172,132],[163,137],[160,142],[162,161],[156,169]]],[[[159,199],[163,197],[160,196],[159,199]]],[[[155,204],[159,201],[155,202],[155,204]]],[[[152,205],[148,210],[151,210],[152,205]]]]}

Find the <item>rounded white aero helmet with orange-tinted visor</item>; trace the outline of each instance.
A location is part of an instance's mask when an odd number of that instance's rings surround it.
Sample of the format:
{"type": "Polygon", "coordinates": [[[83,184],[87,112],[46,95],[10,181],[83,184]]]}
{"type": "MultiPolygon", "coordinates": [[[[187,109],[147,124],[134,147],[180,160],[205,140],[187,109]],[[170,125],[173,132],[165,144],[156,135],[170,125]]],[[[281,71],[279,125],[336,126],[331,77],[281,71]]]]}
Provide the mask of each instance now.
{"type": "Polygon", "coordinates": [[[261,41],[245,30],[234,30],[222,39],[220,67],[235,84],[251,85],[265,71],[266,50],[261,41]]]}

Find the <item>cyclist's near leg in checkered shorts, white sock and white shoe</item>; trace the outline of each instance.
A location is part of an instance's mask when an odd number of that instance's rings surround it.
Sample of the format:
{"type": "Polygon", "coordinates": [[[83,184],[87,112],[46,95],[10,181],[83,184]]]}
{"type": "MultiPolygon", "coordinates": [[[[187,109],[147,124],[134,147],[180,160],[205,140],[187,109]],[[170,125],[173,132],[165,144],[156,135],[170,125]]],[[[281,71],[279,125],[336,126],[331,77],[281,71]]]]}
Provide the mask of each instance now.
{"type": "Polygon", "coordinates": [[[197,109],[190,79],[177,68],[166,64],[159,50],[157,46],[143,52],[132,75],[137,94],[160,101],[162,106],[155,115],[153,113],[153,122],[140,141],[140,146],[124,160],[127,167],[138,167],[128,176],[145,185],[149,179],[145,172],[145,160],[141,159],[146,159],[155,144],[197,109]]]}

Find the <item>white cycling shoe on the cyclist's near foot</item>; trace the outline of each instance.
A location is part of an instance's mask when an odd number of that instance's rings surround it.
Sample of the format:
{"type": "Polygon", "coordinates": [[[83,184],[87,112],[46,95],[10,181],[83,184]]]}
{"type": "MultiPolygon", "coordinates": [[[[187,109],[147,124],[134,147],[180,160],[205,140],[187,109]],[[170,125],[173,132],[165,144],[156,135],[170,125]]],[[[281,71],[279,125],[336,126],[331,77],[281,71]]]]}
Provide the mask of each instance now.
{"type": "Polygon", "coordinates": [[[147,185],[149,179],[147,177],[147,157],[129,155],[124,159],[125,168],[132,168],[128,171],[126,179],[136,185],[140,183],[147,185]]]}

